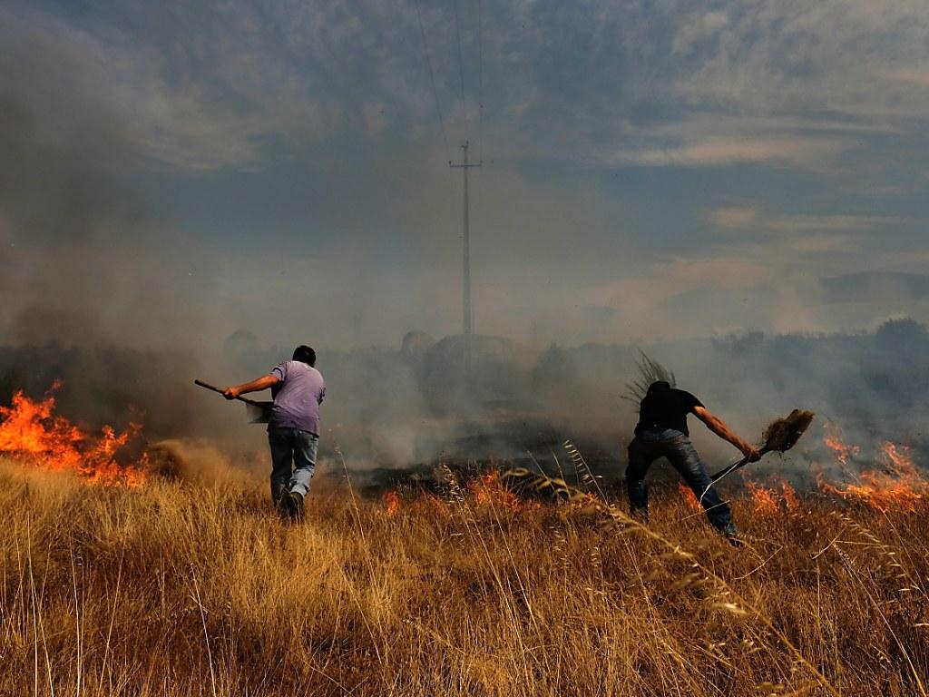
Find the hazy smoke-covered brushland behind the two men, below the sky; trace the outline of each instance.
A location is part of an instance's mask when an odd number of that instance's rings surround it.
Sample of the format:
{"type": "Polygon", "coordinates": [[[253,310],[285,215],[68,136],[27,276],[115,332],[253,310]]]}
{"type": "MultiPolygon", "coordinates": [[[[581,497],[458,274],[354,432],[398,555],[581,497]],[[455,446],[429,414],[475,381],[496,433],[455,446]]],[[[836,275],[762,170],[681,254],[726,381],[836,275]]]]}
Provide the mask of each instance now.
{"type": "MultiPolygon", "coordinates": [[[[500,337],[478,337],[474,376],[465,387],[462,342],[411,333],[402,346],[320,351],[326,376],[322,454],[338,447],[357,473],[431,466],[438,461],[535,459],[554,464],[567,439],[593,467],[619,476],[632,438],[639,347],[586,344],[529,349],[500,337]]],[[[826,432],[859,448],[873,463],[885,441],[927,447],[929,334],[911,320],[883,322],[872,332],[831,335],[750,333],[643,347],[674,370],[747,439],[795,407],[817,414],[811,437],[777,468],[803,485],[810,466],[827,466],[826,432]]],[[[219,385],[263,375],[292,347],[267,346],[248,332],[215,350],[130,349],[100,342],[0,348],[0,401],[24,390],[39,398],[53,385],[57,409],[89,431],[104,424],[144,424],[150,442],[171,439],[209,446],[233,467],[263,467],[262,427],[244,423],[240,405],[192,385],[219,385]]],[[[711,467],[733,456],[728,445],[695,428],[711,467]]],[[[341,466],[340,466],[341,467],[341,466]]]]}

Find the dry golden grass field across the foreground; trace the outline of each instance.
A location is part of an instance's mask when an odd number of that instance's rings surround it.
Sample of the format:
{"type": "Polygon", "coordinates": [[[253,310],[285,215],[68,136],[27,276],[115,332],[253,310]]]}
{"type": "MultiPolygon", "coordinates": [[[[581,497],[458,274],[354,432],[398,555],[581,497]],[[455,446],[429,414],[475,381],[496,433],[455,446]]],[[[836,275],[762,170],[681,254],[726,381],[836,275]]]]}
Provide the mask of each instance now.
{"type": "MultiPolygon", "coordinates": [[[[321,487],[320,487],[321,489],[321,487]]],[[[0,467],[0,694],[925,694],[929,513],[507,508],[0,467]]]]}

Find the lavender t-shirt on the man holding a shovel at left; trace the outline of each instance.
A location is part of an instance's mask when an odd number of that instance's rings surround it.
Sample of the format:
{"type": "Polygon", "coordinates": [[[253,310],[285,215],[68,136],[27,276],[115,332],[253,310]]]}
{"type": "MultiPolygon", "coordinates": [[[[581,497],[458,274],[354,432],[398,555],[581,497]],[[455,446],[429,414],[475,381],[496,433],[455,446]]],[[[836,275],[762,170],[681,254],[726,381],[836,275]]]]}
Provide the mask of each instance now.
{"type": "Polygon", "coordinates": [[[319,435],[320,404],[326,395],[320,371],[305,362],[284,361],[270,375],[281,382],[271,388],[274,406],[268,429],[299,428],[319,435]]]}

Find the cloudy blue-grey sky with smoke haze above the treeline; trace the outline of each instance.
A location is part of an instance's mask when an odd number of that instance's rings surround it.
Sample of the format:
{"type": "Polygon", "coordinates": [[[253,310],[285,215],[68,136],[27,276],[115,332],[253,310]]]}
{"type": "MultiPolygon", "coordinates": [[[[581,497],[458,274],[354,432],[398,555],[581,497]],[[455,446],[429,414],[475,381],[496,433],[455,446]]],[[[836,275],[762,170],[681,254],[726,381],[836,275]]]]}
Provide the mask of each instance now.
{"type": "Polygon", "coordinates": [[[0,343],[929,321],[929,8],[0,2],[0,343]]]}

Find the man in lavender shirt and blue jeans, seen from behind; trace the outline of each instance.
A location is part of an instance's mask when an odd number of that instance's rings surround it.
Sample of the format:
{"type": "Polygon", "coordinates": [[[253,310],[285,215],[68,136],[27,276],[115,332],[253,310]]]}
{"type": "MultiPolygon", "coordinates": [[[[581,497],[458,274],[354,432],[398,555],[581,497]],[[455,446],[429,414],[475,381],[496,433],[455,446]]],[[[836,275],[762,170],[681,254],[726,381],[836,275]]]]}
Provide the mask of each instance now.
{"type": "Polygon", "coordinates": [[[303,500],[316,468],[320,445],[320,404],[326,384],[315,367],[316,351],[308,346],[294,350],[268,375],[223,390],[227,400],[245,392],[271,388],[274,406],[268,418],[271,446],[271,500],[290,518],[303,516],[303,500]],[[293,466],[293,469],[292,469],[293,466]]]}

